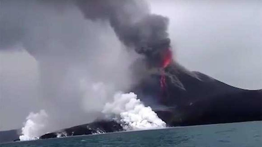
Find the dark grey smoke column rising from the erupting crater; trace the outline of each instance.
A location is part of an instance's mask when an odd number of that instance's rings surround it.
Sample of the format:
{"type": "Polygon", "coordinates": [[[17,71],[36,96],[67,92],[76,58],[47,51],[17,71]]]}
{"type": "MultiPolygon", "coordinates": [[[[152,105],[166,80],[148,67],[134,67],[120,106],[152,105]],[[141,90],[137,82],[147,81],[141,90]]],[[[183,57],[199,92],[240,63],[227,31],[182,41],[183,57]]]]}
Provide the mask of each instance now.
{"type": "Polygon", "coordinates": [[[85,18],[109,21],[119,40],[146,57],[150,66],[163,67],[170,52],[168,18],[151,14],[142,0],[78,0],[85,18]]]}

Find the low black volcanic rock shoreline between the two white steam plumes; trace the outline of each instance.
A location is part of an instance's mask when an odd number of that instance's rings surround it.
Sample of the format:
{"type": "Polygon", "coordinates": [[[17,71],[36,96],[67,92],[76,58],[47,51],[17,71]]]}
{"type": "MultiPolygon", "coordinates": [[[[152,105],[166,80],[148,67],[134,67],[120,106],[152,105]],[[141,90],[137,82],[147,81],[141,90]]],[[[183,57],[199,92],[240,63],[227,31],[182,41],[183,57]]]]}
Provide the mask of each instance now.
{"type": "Polygon", "coordinates": [[[66,137],[75,135],[90,135],[90,134],[101,134],[108,132],[123,131],[123,128],[116,121],[95,121],[90,124],[82,124],[79,126],[62,129],[56,132],[47,133],[40,136],[40,139],[66,137]]]}

